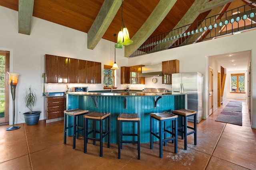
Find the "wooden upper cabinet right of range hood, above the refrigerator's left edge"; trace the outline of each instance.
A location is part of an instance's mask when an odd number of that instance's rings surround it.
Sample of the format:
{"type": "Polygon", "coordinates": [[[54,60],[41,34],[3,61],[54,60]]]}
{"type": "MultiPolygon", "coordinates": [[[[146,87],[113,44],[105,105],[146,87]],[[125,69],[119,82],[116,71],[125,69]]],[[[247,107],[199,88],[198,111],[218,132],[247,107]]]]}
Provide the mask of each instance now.
{"type": "Polygon", "coordinates": [[[180,61],[162,61],[162,84],[172,84],[172,73],[180,72],[180,61]]]}

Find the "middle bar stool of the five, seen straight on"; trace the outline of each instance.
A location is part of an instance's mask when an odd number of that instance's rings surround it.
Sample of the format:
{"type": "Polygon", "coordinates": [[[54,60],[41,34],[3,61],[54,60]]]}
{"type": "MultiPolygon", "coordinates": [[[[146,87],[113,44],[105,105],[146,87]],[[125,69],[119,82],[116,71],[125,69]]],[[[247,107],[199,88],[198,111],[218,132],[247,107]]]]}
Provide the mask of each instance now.
{"type": "Polygon", "coordinates": [[[121,149],[123,143],[135,143],[137,144],[138,149],[138,160],[140,160],[140,115],[138,113],[135,114],[126,114],[121,113],[118,118],[118,159],[121,157],[121,149]],[[124,133],[122,123],[123,122],[137,122],[137,133],[124,133]],[[135,140],[123,140],[123,136],[135,136],[137,137],[137,141],[135,140]]]}

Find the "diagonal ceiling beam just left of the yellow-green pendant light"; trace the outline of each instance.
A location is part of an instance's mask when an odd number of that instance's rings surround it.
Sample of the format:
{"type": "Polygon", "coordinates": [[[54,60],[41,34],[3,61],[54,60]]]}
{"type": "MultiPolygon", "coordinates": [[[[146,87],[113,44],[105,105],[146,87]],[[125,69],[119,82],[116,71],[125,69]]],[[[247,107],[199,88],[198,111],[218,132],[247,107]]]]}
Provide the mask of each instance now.
{"type": "Polygon", "coordinates": [[[116,16],[118,9],[122,4],[121,0],[105,0],[100,11],[92,23],[87,33],[87,48],[94,49],[104,33],[108,29],[110,23],[116,16]]]}

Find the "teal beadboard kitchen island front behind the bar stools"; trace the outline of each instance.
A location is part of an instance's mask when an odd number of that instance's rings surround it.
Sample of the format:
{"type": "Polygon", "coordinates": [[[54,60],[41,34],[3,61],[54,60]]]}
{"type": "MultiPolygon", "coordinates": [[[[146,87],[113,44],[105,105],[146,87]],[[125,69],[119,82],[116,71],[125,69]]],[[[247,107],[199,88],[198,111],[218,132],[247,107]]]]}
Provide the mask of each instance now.
{"type": "MultiPolygon", "coordinates": [[[[143,92],[67,92],[66,109],[84,109],[111,113],[110,143],[117,143],[117,117],[120,113],[140,113],[140,143],[150,142],[150,113],[160,113],[187,106],[187,94],[181,93],[143,93],[143,92]]],[[[68,120],[68,123],[71,123],[68,120]]],[[[82,120],[80,122],[82,125],[82,120]]],[[[134,125],[126,123],[126,133],[133,131],[134,125]]],[[[89,128],[92,125],[89,124],[89,128]]],[[[129,137],[127,137],[129,140],[129,137]]],[[[106,140],[106,139],[105,139],[106,140]]]]}

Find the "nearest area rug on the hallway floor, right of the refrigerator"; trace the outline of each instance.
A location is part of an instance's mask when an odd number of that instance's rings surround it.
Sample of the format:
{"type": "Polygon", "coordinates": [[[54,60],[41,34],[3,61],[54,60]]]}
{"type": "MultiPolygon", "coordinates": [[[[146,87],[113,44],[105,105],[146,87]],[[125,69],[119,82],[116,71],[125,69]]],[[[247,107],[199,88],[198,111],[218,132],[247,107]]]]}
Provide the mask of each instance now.
{"type": "Polygon", "coordinates": [[[242,126],[242,113],[236,111],[222,111],[216,121],[242,126]]]}

